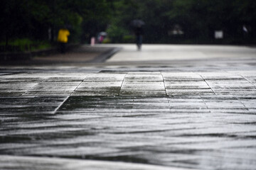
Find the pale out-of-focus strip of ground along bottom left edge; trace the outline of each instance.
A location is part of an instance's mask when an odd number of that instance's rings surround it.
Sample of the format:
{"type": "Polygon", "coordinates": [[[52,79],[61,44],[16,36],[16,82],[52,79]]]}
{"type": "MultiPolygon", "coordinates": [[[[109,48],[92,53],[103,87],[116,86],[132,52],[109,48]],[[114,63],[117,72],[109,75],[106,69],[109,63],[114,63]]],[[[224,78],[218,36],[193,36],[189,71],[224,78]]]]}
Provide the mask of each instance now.
{"type": "MultiPolygon", "coordinates": [[[[49,158],[49,157],[17,157],[17,156],[0,156],[0,168],[5,169],[19,169],[19,170],[41,170],[41,169],[55,169],[55,170],[170,170],[170,167],[134,164],[124,162],[106,162],[95,160],[80,160],[80,159],[63,159],[63,158],[49,158]],[[11,162],[11,164],[9,163],[11,162]],[[18,168],[17,168],[18,167],[18,168]]],[[[171,168],[171,170],[191,170],[184,168],[171,168]]]]}

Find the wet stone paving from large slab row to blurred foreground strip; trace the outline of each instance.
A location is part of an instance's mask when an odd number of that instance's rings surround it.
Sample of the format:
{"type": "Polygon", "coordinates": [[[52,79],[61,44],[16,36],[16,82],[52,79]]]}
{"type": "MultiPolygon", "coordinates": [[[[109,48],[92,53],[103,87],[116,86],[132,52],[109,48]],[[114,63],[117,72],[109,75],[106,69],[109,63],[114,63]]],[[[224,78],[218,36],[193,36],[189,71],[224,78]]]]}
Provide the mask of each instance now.
{"type": "MultiPolygon", "coordinates": [[[[27,161],[10,156],[16,155],[33,156],[33,164],[46,164],[36,157],[62,157],[255,169],[255,75],[0,74],[0,160],[27,161]]],[[[0,161],[0,169],[6,167],[0,161]]]]}

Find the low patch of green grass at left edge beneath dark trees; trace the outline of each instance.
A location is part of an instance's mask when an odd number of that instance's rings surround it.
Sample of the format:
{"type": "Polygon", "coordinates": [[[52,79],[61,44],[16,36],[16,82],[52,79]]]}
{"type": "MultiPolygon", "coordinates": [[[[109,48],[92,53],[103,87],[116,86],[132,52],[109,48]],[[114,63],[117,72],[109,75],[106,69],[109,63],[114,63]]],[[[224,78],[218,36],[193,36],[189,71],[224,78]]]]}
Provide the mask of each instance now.
{"type": "Polygon", "coordinates": [[[47,41],[30,40],[28,38],[10,40],[6,47],[5,42],[0,42],[0,52],[29,52],[52,47],[47,41]]]}

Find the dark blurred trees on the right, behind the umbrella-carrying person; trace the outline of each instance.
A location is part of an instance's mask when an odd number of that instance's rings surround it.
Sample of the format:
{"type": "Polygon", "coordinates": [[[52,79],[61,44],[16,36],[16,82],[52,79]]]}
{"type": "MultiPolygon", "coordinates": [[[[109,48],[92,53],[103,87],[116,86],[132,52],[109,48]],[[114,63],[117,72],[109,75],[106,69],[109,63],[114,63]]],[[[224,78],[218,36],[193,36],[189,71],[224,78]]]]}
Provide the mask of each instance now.
{"type": "Polygon", "coordinates": [[[215,30],[224,31],[225,40],[221,42],[253,42],[255,4],[253,0],[131,0],[129,4],[115,1],[116,17],[111,27],[121,29],[123,35],[127,31],[132,35],[129,22],[140,18],[146,23],[144,42],[219,43],[220,40],[214,39],[215,30]],[[184,34],[171,35],[175,26],[180,26],[184,34]],[[249,32],[243,33],[242,26],[249,32]]]}

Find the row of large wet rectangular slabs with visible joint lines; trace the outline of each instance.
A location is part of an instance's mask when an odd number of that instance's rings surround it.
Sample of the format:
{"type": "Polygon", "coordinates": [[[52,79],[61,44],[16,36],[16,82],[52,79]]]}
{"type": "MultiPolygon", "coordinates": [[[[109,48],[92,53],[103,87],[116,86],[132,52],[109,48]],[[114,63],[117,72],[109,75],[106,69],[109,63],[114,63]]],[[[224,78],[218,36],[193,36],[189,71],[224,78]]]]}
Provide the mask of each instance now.
{"type": "Polygon", "coordinates": [[[2,75],[1,96],[255,95],[255,76],[225,72],[124,72],[2,75]],[[223,74],[223,75],[222,75],[223,74]],[[222,76],[221,76],[222,75],[222,76]],[[73,77],[75,76],[75,77],[73,77]]]}

